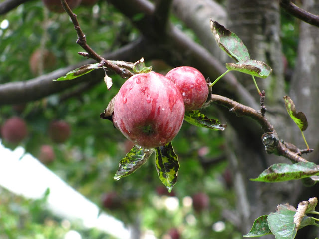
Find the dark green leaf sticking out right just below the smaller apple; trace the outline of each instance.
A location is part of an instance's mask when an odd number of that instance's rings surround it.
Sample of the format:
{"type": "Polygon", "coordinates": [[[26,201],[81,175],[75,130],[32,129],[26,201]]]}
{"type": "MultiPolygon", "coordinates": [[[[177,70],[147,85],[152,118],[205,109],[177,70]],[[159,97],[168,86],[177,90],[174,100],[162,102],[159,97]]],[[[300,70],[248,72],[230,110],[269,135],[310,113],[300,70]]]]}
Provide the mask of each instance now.
{"type": "Polygon", "coordinates": [[[209,119],[204,114],[199,111],[189,111],[185,112],[184,119],[197,127],[209,128],[213,130],[224,130],[226,128],[226,124],[221,124],[216,119],[209,119]]]}

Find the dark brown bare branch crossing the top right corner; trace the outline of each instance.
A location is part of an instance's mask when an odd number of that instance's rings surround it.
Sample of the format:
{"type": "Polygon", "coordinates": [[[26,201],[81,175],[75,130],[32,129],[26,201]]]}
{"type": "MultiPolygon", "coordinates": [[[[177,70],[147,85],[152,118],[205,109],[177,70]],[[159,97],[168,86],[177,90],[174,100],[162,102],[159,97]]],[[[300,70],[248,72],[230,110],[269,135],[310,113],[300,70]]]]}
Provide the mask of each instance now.
{"type": "Polygon", "coordinates": [[[292,3],[291,0],[280,0],[280,6],[294,17],[297,17],[298,19],[301,19],[304,22],[319,27],[318,15],[314,15],[308,11],[299,8],[294,3],[292,3]]]}

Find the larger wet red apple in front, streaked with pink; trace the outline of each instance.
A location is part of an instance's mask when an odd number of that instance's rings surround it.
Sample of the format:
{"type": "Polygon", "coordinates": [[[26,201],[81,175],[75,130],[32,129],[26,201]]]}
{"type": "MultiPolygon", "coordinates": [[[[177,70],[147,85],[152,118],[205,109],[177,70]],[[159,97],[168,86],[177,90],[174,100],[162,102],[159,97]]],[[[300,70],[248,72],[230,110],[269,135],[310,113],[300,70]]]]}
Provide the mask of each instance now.
{"type": "Polygon", "coordinates": [[[184,119],[183,98],[172,81],[155,72],[131,76],[114,103],[114,123],[134,144],[156,148],[169,143],[184,119]]]}

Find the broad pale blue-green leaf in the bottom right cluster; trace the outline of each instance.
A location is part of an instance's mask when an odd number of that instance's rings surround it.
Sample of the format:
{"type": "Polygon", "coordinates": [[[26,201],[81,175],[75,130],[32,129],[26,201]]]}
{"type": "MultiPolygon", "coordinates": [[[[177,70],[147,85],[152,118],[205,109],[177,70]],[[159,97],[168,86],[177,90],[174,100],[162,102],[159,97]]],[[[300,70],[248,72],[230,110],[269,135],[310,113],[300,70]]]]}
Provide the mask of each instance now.
{"type": "Polygon", "coordinates": [[[276,239],[293,239],[296,237],[297,229],[294,223],[296,209],[289,204],[277,206],[276,213],[268,215],[268,225],[276,239]]]}

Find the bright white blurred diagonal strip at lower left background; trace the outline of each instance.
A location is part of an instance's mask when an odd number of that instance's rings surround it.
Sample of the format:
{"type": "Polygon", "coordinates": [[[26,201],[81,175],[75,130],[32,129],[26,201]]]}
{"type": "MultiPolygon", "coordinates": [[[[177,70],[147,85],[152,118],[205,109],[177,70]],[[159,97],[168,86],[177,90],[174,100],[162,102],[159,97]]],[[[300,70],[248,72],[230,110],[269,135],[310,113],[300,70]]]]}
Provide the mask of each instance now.
{"type": "Polygon", "coordinates": [[[22,147],[14,151],[0,141],[0,186],[25,198],[40,199],[49,188],[48,208],[61,218],[81,220],[87,228],[97,228],[118,239],[129,239],[124,223],[101,213],[97,205],[67,185],[22,147]]]}

